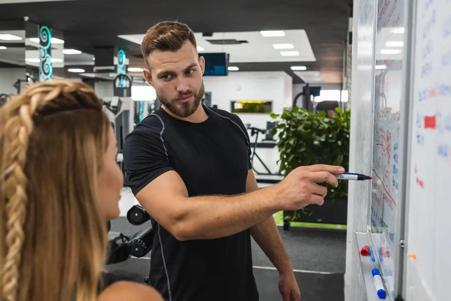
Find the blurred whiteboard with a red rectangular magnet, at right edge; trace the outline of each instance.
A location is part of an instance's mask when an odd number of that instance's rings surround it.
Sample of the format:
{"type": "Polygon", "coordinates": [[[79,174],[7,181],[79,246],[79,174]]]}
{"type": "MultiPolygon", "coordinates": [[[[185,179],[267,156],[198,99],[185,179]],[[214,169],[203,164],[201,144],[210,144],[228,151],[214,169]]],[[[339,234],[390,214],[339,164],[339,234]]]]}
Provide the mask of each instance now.
{"type": "Polygon", "coordinates": [[[406,267],[411,300],[450,300],[451,1],[418,0],[406,267]]]}

